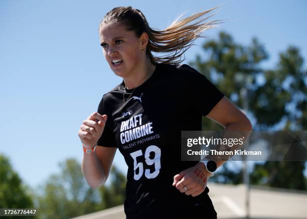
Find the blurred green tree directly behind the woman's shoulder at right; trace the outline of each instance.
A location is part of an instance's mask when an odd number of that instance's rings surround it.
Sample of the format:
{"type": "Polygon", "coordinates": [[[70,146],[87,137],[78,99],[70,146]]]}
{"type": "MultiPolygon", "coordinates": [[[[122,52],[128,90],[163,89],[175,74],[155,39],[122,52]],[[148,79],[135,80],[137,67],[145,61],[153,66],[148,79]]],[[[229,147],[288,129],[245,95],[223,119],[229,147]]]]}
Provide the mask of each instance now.
{"type": "MultiPolygon", "coordinates": [[[[202,48],[204,56],[208,58],[203,60],[203,55],[197,55],[190,65],[204,74],[238,107],[244,108],[253,104],[243,95],[243,91],[246,88],[248,94],[254,92],[257,77],[263,73],[260,62],[268,58],[258,40],[254,38],[251,46],[244,47],[236,44],[227,33],[221,32],[217,41],[207,41],[202,48]]],[[[204,117],[203,130],[222,129],[219,124],[204,117]]]]}

